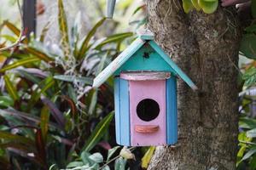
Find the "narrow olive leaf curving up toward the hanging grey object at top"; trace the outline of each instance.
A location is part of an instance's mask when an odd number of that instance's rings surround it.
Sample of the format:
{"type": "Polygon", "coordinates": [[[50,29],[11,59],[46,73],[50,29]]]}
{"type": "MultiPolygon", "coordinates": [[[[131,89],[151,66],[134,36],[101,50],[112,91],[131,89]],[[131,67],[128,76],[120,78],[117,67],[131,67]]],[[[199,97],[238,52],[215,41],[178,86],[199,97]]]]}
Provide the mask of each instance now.
{"type": "Polygon", "coordinates": [[[99,20],[96,25],[89,31],[89,33],[87,34],[87,36],[85,37],[84,41],[82,42],[82,46],[79,50],[79,56],[78,58],[81,59],[84,54],[86,53],[86,51],[89,48],[89,42],[91,37],[93,37],[97,31],[97,29],[102,26],[102,24],[104,23],[104,21],[106,20],[106,18],[103,18],[102,20],[99,20]]]}

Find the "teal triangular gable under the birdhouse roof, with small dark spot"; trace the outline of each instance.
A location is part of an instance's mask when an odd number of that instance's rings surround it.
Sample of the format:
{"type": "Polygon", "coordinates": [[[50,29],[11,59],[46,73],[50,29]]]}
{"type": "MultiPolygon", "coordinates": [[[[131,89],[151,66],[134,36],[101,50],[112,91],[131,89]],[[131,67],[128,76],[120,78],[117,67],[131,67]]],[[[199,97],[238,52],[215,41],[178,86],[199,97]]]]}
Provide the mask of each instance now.
{"type": "Polygon", "coordinates": [[[137,50],[114,74],[119,75],[121,71],[168,71],[175,74],[172,67],[148,43],[137,50]]]}

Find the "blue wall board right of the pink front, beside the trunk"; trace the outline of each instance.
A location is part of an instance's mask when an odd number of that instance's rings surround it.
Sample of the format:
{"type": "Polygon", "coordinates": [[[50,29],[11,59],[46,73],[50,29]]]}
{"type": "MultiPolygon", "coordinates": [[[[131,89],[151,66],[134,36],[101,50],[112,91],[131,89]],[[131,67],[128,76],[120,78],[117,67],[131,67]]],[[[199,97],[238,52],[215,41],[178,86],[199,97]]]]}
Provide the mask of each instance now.
{"type": "Polygon", "coordinates": [[[177,143],[177,77],[166,80],[166,139],[167,144],[177,143]]]}

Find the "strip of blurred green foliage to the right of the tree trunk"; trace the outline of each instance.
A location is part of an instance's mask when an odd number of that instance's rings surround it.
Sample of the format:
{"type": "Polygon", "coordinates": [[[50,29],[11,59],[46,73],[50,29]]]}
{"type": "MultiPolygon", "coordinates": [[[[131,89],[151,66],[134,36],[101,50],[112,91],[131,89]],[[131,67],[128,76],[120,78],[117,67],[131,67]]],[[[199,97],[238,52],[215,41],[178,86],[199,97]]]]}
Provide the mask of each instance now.
{"type": "MultiPolygon", "coordinates": [[[[252,6],[253,7],[253,6],[252,6]]],[[[256,8],[252,8],[254,17],[251,26],[247,26],[241,40],[241,55],[251,59],[241,65],[240,84],[240,120],[239,151],[237,169],[256,169],[256,8]]]]}

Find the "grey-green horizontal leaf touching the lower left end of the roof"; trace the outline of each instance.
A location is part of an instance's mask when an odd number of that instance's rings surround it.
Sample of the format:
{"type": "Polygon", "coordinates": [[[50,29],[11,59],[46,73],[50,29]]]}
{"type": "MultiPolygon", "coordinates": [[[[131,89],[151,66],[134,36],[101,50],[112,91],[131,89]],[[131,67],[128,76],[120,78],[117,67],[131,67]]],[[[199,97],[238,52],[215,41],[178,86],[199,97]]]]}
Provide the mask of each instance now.
{"type": "Polygon", "coordinates": [[[73,77],[67,75],[56,75],[54,76],[55,79],[65,81],[65,82],[84,82],[85,84],[92,85],[93,78],[90,77],[73,77]]]}

